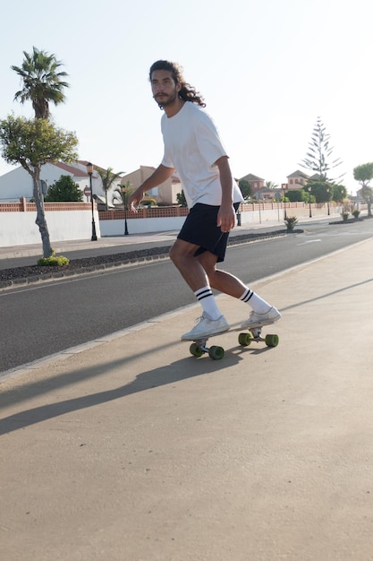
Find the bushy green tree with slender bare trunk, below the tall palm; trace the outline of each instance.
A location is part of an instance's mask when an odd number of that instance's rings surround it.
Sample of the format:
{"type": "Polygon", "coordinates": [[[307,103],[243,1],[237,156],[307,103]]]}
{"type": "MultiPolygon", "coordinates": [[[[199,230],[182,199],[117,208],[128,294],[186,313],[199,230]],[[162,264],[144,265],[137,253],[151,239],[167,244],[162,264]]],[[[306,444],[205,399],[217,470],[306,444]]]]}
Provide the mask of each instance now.
{"type": "Polygon", "coordinates": [[[78,139],[74,133],[56,128],[47,119],[8,116],[0,121],[2,156],[8,164],[21,164],[32,177],[33,197],[37,205],[36,224],[43,244],[43,257],[52,255],[47,220],[39,192],[40,170],[58,160],[77,160],[78,139]]]}

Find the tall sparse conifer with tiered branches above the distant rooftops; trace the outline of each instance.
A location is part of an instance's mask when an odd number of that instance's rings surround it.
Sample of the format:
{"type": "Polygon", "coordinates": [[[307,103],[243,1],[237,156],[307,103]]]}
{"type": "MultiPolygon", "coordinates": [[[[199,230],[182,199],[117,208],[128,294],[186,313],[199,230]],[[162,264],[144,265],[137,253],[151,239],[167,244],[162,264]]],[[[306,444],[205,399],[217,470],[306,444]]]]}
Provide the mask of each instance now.
{"type": "Polygon", "coordinates": [[[321,118],[318,117],[311,141],[309,142],[309,151],[306,154],[306,158],[301,160],[300,166],[315,172],[318,175],[319,181],[334,183],[335,179],[328,177],[329,170],[340,166],[342,160],[330,161],[333,148],[329,146],[329,138],[330,134],[326,133],[326,127],[321,118]]]}

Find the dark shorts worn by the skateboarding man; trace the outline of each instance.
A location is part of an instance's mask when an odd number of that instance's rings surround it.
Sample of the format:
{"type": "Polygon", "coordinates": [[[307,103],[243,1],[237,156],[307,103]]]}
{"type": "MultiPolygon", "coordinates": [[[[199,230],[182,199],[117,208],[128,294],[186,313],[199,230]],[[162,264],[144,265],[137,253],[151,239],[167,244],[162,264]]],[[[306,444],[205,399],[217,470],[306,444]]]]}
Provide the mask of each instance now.
{"type": "MultiPolygon", "coordinates": [[[[235,210],[239,203],[234,204],[235,210]]],[[[217,256],[217,263],[225,259],[225,250],[228,242],[229,232],[222,232],[216,226],[217,213],[220,206],[197,203],[191,207],[191,211],[182,225],[178,239],[199,246],[196,253],[197,257],[205,251],[217,256]]]]}

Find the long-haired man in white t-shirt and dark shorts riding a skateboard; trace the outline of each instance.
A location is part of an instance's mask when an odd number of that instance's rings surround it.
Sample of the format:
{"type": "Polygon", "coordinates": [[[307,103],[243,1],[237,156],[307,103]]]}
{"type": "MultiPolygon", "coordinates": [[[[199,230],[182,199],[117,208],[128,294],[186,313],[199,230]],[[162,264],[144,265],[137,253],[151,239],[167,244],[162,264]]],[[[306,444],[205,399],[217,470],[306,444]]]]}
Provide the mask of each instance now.
{"type": "Polygon", "coordinates": [[[182,67],[158,60],[150,67],[153,98],[164,110],[161,129],[165,153],[153,174],[131,194],[131,211],[145,191],[159,186],[175,171],[181,178],[190,212],[170,250],[170,258],[203,308],[199,323],[182,339],[195,341],[229,329],[212,289],[250,305],[242,327],[272,324],[281,315],[232,274],[216,269],[224,261],[229,232],[242,194],[233,180],[228,156],[199,93],[185,82],[182,67]]]}

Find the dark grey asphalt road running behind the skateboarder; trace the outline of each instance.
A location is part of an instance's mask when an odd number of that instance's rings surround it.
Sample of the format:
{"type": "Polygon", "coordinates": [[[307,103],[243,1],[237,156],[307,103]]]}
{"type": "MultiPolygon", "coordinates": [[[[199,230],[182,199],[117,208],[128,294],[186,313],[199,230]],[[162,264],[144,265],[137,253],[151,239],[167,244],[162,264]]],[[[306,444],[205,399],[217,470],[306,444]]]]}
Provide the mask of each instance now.
{"type": "MultiPolygon", "coordinates": [[[[317,223],[302,234],[231,247],[224,268],[250,284],[345,246],[353,251],[372,236],[373,220],[317,223]]],[[[168,259],[6,290],[0,293],[0,372],[193,303],[168,259]]],[[[184,327],[181,320],[181,332],[184,327]]],[[[139,339],[141,345],[146,341],[139,339]]]]}

